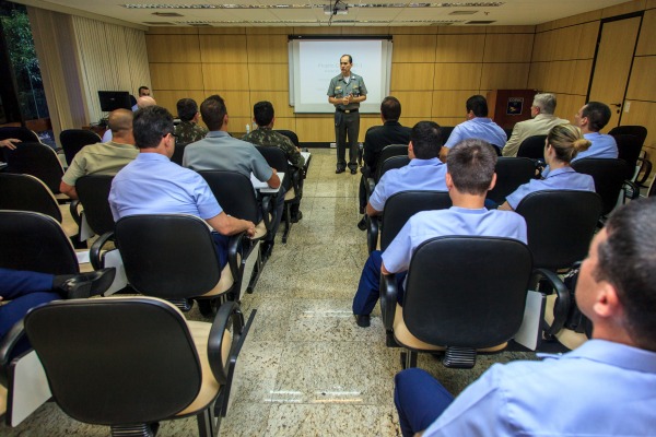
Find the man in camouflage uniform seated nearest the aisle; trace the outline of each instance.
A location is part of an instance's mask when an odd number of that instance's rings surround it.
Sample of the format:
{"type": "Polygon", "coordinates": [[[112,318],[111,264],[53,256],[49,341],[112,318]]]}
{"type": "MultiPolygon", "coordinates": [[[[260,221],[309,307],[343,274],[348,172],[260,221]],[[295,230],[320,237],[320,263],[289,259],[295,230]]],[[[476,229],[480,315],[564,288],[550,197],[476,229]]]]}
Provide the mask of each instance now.
{"type": "MultiPolygon", "coordinates": [[[[292,166],[303,169],[305,158],[301,155],[301,150],[292,143],[292,140],[273,130],[276,117],[271,102],[256,103],[253,106],[253,116],[258,128],[247,133],[242,140],[257,145],[280,147],[292,166]]],[[[300,189],[303,191],[303,179],[300,180],[300,189]]],[[[292,204],[291,213],[293,223],[298,222],[303,217],[303,214],[298,211],[300,204],[301,199],[294,201],[292,204]]]]}

